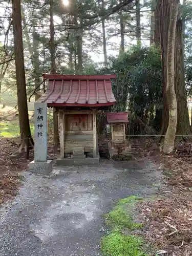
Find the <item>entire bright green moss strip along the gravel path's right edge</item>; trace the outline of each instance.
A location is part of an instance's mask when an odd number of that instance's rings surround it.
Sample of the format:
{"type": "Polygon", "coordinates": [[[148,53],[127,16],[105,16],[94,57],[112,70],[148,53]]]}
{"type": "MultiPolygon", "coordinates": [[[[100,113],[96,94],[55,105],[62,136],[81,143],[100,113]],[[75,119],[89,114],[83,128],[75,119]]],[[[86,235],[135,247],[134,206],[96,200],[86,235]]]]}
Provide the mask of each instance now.
{"type": "Polygon", "coordinates": [[[143,239],[139,236],[125,235],[123,230],[141,229],[142,224],[133,219],[134,206],[142,199],[136,196],[127,197],[118,201],[112,211],[104,215],[105,224],[111,227],[108,236],[101,241],[103,256],[145,256],[143,239]]]}

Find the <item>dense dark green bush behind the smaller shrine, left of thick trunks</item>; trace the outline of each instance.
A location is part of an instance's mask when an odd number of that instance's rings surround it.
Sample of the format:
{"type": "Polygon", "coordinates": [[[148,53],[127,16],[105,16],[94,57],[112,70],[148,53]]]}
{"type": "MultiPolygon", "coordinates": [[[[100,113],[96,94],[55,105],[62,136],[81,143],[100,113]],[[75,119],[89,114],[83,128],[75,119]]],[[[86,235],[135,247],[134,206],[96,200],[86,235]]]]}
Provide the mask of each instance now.
{"type": "Polygon", "coordinates": [[[161,55],[156,47],[137,48],[120,55],[114,63],[118,73],[116,95],[124,111],[128,107],[141,117],[152,104],[161,102],[161,55]],[[128,104],[127,104],[128,98],[128,104]]]}

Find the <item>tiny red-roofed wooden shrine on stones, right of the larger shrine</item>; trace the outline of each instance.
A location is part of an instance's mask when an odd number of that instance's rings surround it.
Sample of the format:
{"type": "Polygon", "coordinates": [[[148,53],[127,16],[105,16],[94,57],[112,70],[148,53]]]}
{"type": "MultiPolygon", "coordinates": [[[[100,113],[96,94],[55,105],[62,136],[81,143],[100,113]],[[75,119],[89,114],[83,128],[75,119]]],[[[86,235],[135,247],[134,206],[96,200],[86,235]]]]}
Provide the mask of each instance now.
{"type": "Polygon", "coordinates": [[[131,145],[126,141],[125,125],[129,123],[130,112],[108,112],[104,113],[108,124],[111,124],[111,141],[109,142],[109,155],[114,157],[125,157],[130,154],[131,145]]]}

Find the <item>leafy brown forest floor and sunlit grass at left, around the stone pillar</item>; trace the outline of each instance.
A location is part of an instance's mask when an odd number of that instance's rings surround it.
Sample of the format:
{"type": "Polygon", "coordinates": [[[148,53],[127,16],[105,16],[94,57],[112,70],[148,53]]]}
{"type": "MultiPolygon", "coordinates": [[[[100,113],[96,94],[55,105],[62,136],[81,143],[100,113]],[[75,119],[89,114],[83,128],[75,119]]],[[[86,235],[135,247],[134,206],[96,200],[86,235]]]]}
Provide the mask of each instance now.
{"type": "MultiPolygon", "coordinates": [[[[33,111],[29,111],[31,134],[34,134],[33,111]]],[[[18,172],[25,171],[34,159],[33,150],[29,159],[25,154],[18,154],[19,138],[18,111],[10,106],[0,107],[0,204],[17,194],[22,176],[18,172]]],[[[53,155],[52,141],[49,143],[48,154],[53,155]]]]}

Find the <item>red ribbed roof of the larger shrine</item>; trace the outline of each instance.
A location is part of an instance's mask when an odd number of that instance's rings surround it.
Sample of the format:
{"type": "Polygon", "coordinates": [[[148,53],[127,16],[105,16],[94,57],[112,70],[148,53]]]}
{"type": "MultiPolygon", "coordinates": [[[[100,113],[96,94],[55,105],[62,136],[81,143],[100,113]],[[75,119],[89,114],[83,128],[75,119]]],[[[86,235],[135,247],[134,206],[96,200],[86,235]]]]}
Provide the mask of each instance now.
{"type": "Polygon", "coordinates": [[[37,102],[48,106],[104,106],[116,100],[111,78],[116,75],[44,75],[48,79],[47,91],[37,102]]]}

